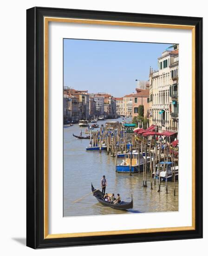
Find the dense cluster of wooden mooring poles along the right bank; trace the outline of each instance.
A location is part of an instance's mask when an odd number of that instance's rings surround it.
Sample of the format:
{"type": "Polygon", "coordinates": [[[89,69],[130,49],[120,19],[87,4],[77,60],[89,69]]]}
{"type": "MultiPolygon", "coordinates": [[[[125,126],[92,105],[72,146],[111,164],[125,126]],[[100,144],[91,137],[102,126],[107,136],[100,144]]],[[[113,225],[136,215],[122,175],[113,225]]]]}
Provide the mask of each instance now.
{"type": "MultiPolygon", "coordinates": [[[[171,169],[173,170],[172,182],[174,182],[174,195],[176,195],[176,161],[177,159],[172,153],[170,153],[169,147],[165,147],[163,150],[160,143],[156,143],[156,140],[147,140],[142,135],[136,135],[133,133],[126,133],[125,128],[121,123],[107,123],[104,127],[101,125],[100,130],[97,133],[91,135],[92,146],[99,146],[99,151],[102,151],[102,145],[107,146],[107,154],[116,158],[117,165],[117,152],[127,153],[127,145],[130,146],[130,175],[132,175],[132,151],[136,150],[138,153],[138,166],[140,167],[140,157],[145,153],[143,164],[143,187],[147,187],[147,173],[150,173],[150,188],[153,189],[153,173],[154,185],[156,185],[156,167],[158,169],[158,177],[160,172],[166,170],[166,193],[168,194],[168,163],[171,161],[171,169]],[[139,137],[138,137],[139,136],[139,137]],[[150,164],[147,162],[147,155],[150,156],[150,164]],[[161,168],[160,162],[163,160],[163,166],[161,168]]],[[[140,168],[138,170],[140,172],[140,168]]],[[[158,178],[158,192],[161,191],[161,181],[158,178]]]]}

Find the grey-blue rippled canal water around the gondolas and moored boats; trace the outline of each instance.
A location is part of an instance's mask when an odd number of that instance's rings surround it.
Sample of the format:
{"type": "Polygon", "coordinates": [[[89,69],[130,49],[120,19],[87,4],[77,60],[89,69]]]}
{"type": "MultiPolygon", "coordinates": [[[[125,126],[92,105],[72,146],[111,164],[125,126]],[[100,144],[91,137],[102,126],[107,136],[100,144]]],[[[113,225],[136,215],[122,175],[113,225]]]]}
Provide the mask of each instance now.
{"type": "MultiPolygon", "coordinates": [[[[122,121],[122,119],[98,121],[99,126],[106,121],[122,121]]],[[[168,182],[166,194],[165,182],[161,182],[161,192],[158,193],[158,183],[153,183],[150,189],[150,175],[147,173],[147,188],[143,188],[143,173],[121,174],[115,170],[115,158],[105,151],[86,151],[89,140],[79,140],[72,134],[79,135],[78,124],[64,127],[64,216],[89,216],[106,214],[129,214],[144,212],[178,211],[178,182],[176,196],[174,183],[168,182]],[[134,208],[128,211],[115,210],[97,202],[93,195],[73,203],[78,198],[91,192],[91,182],[96,189],[101,187],[102,176],[107,180],[107,193],[120,194],[123,201],[130,202],[133,194],[134,208]]],[[[85,128],[82,128],[83,136],[85,128]]],[[[121,161],[121,160],[120,160],[121,161]]]]}

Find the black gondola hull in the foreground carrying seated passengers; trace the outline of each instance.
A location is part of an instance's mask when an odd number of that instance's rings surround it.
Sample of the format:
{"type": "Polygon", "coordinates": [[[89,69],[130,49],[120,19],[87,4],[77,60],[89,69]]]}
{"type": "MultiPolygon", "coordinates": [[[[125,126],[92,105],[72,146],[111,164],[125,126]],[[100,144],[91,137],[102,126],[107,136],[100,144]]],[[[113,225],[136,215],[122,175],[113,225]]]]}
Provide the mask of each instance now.
{"type": "Polygon", "coordinates": [[[92,184],[91,184],[91,189],[92,189],[92,192],[94,192],[93,195],[96,197],[97,201],[102,203],[104,206],[109,206],[113,209],[118,209],[118,210],[127,210],[127,209],[133,208],[132,194],[131,194],[131,202],[121,201],[118,204],[113,204],[113,203],[104,201],[102,192],[100,190],[95,189],[92,184]]]}

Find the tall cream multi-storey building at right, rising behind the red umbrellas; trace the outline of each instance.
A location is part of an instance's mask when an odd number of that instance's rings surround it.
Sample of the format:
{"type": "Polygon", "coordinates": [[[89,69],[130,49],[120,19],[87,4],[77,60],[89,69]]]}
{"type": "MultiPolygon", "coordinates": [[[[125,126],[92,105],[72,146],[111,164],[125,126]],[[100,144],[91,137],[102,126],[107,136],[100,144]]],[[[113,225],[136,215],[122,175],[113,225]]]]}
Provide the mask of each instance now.
{"type": "Polygon", "coordinates": [[[176,98],[173,101],[178,86],[176,72],[178,45],[174,46],[174,50],[165,50],[158,58],[158,71],[153,72],[150,68],[150,125],[156,125],[159,132],[171,131],[172,128],[177,131],[178,102],[176,98]]]}

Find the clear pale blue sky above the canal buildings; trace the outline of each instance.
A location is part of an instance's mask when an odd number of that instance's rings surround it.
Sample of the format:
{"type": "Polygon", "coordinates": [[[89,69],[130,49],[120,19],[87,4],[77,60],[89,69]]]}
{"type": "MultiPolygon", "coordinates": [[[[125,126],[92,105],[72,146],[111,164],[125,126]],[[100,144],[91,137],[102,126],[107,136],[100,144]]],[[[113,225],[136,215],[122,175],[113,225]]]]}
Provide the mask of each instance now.
{"type": "Polygon", "coordinates": [[[148,80],[150,66],[171,44],[64,39],[64,86],[114,97],[148,80]]]}

